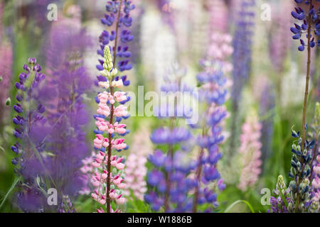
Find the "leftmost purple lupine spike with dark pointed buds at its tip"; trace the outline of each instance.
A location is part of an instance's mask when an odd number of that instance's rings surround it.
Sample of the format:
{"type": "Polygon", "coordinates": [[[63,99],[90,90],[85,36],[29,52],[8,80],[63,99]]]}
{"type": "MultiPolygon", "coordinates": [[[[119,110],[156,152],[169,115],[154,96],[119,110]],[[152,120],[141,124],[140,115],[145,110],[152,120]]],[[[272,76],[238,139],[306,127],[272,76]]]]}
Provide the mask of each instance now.
{"type": "Polygon", "coordinates": [[[46,111],[39,102],[38,90],[45,74],[41,73],[41,66],[36,58],[29,58],[29,66],[24,65],[19,74],[19,81],[15,86],[18,89],[14,111],[17,115],[13,118],[15,125],[14,136],[17,141],[11,146],[11,150],[18,155],[12,160],[16,166],[15,172],[22,177],[20,192],[18,193],[18,205],[22,211],[36,212],[43,210],[45,199],[39,187],[44,187],[41,180],[36,180],[46,175],[44,163],[46,160],[41,155],[44,145],[43,138],[48,135],[45,126],[46,111]]]}

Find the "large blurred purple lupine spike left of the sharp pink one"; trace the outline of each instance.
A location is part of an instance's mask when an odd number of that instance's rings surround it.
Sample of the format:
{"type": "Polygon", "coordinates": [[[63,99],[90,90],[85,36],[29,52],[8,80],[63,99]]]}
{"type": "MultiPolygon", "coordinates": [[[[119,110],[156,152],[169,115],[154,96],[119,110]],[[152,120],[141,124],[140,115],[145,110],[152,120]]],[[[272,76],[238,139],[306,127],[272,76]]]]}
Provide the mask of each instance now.
{"type": "Polygon", "coordinates": [[[64,195],[73,199],[86,184],[80,167],[81,160],[91,150],[85,139],[90,113],[82,97],[92,87],[93,80],[82,64],[82,54],[89,45],[85,31],[75,28],[72,31],[65,24],[51,28],[50,43],[46,45],[50,75],[46,79],[42,99],[46,99],[47,119],[51,127],[46,139],[47,150],[53,154],[48,158],[50,175],[59,182],[56,188],[59,203],[68,204],[64,195]]]}

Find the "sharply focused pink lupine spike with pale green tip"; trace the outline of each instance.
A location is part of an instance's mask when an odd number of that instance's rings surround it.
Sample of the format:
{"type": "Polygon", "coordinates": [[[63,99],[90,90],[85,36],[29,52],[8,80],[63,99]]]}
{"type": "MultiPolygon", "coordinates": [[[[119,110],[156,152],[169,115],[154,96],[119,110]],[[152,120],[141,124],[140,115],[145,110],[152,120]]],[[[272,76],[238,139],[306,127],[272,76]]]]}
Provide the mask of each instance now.
{"type": "MultiPolygon", "coordinates": [[[[124,138],[115,138],[116,135],[127,134],[126,125],[114,122],[113,117],[127,117],[127,106],[122,101],[127,100],[125,92],[114,92],[114,88],[123,86],[122,79],[114,81],[117,75],[117,68],[113,67],[110,47],[105,46],[105,60],[101,74],[107,80],[98,84],[105,91],[97,96],[97,115],[95,115],[96,138],[93,140],[97,155],[92,161],[94,174],[91,177],[91,183],[95,187],[95,191],[91,194],[92,198],[98,203],[107,204],[107,211],[111,211],[111,201],[117,204],[124,204],[125,199],[122,196],[122,189],[126,187],[124,184],[124,158],[112,155],[112,149],[127,150],[128,146],[124,143],[124,138]],[[117,103],[119,105],[115,107],[117,103]],[[107,137],[105,137],[107,133],[107,137]],[[105,168],[107,167],[107,168],[105,168]],[[112,168],[113,167],[113,168],[112,168]],[[112,169],[111,169],[112,168],[112,169]],[[100,192],[100,189],[102,192],[100,192]]],[[[87,171],[87,170],[84,170],[87,171]]],[[[101,208],[102,209],[102,208],[101,208]]]]}

